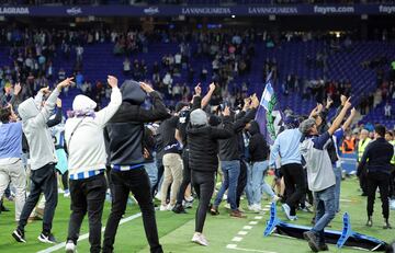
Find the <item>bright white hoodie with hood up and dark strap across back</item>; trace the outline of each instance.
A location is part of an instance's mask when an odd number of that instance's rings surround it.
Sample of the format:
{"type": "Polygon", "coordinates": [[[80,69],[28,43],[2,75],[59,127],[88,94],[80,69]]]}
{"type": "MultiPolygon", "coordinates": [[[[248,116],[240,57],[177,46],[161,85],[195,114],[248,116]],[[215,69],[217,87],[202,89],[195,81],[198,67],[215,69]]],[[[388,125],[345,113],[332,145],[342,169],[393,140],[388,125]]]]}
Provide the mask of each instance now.
{"type": "MultiPolygon", "coordinates": [[[[65,140],[69,154],[68,169],[70,179],[71,175],[78,173],[83,173],[83,179],[87,179],[89,177],[88,172],[105,169],[106,152],[103,129],[116,113],[121,103],[121,91],[119,88],[113,88],[110,104],[95,113],[94,117],[71,117],[66,120],[65,140]],[[81,124],[70,139],[70,135],[79,122],[81,124]]],[[[94,110],[95,106],[97,103],[84,95],[77,95],[72,102],[74,111],[89,111],[94,110]]]]}

